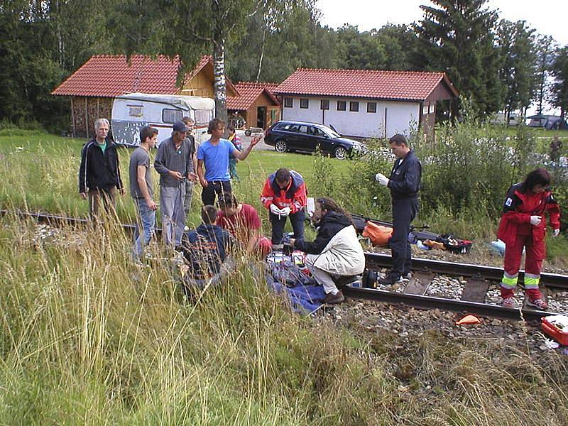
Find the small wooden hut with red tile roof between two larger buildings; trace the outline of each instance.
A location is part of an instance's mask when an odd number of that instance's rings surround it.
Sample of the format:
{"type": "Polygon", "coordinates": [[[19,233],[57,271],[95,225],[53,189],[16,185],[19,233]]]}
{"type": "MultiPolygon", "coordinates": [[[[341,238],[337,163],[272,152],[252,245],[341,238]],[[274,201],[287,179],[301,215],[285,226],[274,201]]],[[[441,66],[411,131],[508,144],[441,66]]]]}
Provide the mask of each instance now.
{"type": "Polygon", "coordinates": [[[229,121],[245,121],[244,126],[247,128],[267,129],[280,120],[280,102],[272,92],[277,86],[276,83],[236,84],[236,90],[241,96],[226,99],[229,121]]]}

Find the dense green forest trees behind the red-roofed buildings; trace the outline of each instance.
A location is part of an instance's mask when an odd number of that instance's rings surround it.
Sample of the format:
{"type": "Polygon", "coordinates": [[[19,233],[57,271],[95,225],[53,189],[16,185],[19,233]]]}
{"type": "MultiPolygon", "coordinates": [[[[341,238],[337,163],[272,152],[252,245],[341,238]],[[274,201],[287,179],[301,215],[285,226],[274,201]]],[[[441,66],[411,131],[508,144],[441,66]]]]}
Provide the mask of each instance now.
{"type": "Polygon", "coordinates": [[[479,116],[568,108],[568,46],[486,0],[437,0],[422,19],[359,31],[322,25],[315,0],[1,0],[0,126],[66,129],[50,92],[92,55],[224,58],[234,82],[282,82],[298,67],[447,72],[479,116]]]}

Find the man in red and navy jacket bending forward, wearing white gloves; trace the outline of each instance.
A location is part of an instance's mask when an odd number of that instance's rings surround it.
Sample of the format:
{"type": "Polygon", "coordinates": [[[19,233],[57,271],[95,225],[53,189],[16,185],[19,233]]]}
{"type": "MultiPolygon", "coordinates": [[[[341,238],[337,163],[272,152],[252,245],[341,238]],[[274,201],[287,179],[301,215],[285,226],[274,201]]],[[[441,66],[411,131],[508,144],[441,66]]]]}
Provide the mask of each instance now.
{"type": "Polygon", "coordinates": [[[272,244],[282,243],[286,217],[290,217],[294,238],[304,239],[307,192],[300,173],[287,168],[276,170],[264,182],[261,202],[268,209],[272,224],[272,244]]]}

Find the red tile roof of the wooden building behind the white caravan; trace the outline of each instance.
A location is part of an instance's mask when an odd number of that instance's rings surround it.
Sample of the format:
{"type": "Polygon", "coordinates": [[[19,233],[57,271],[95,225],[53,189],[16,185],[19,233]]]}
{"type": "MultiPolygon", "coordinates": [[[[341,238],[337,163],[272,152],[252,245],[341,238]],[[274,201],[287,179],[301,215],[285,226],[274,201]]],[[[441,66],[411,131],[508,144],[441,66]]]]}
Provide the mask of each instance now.
{"type": "MultiPolygon", "coordinates": [[[[153,60],[145,55],[132,55],[131,65],[126,55],[94,55],[75,71],[51,94],[62,96],[115,97],[131,92],[176,94],[175,80],[178,75],[179,58],[170,59],[158,55],[153,60]]],[[[207,64],[213,66],[210,55],[204,55],[192,77],[207,64]]],[[[227,87],[234,85],[226,79],[227,87]]]]}

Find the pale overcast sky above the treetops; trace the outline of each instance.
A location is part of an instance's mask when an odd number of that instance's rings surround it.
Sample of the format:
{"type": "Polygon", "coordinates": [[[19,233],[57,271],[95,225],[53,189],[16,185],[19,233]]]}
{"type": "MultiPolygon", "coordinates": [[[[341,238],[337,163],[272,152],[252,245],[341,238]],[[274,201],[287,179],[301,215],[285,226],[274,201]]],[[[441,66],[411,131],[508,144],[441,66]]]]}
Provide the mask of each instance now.
{"type": "MultiPolygon", "coordinates": [[[[338,28],[344,23],[359,31],[381,28],[386,23],[413,23],[422,18],[420,5],[429,0],[317,0],[322,23],[338,28]]],[[[552,35],[561,45],[568,44],[568,1],[566,0],[489,0],[489,9],[499,9],[499,17],[527,21],[537,33],[552,35]]]]}

